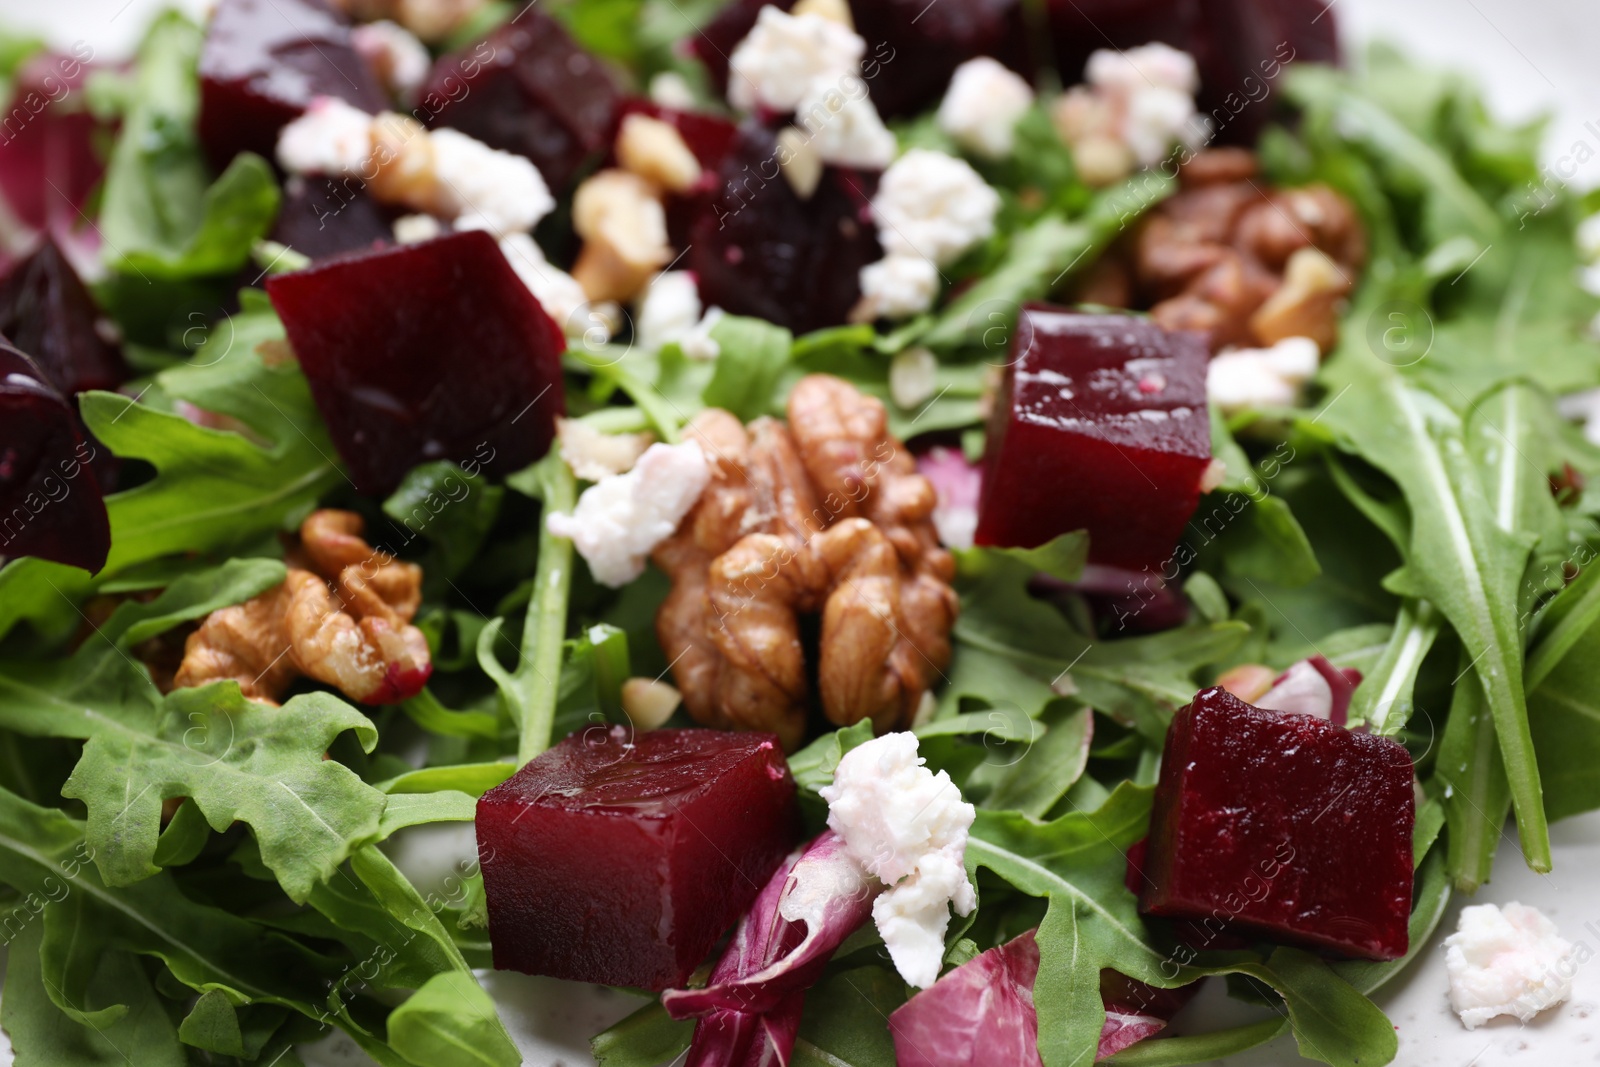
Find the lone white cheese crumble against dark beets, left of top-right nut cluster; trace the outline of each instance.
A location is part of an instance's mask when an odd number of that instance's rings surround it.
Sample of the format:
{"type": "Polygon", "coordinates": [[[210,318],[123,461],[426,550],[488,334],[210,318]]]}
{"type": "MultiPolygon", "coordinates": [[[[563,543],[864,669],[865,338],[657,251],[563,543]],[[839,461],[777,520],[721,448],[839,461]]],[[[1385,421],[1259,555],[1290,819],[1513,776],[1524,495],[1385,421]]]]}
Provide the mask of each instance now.
{"type": "Polygon", "coordinates": [[[1099,50],[1083,69],[1096,96],[1120,114],[1120,139],[1144,166],[1162,162],[1173,144],[1198,147],[1208,131],[1195,114],[1200,70],[1187,53],[1170,45],[1126,51],[1099,50]]]}

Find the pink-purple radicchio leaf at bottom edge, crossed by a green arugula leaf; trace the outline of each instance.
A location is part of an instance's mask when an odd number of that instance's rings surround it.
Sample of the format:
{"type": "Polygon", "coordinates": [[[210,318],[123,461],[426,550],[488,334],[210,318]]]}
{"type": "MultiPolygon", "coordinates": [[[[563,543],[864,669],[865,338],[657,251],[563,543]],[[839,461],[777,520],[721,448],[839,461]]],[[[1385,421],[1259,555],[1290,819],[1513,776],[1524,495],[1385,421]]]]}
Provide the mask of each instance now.
{"type": "MultiPolygon", "coordinates": [[[[1034,981],[1038,944],[1027,931],[981,952],[890,1016],[899,1067],[1040,1067],[1034,981]]],[[[1120,1053],[1162,1030],[1198,987],[1152,989],[1104,971],[1094,1059],[1120,1053]]]]}

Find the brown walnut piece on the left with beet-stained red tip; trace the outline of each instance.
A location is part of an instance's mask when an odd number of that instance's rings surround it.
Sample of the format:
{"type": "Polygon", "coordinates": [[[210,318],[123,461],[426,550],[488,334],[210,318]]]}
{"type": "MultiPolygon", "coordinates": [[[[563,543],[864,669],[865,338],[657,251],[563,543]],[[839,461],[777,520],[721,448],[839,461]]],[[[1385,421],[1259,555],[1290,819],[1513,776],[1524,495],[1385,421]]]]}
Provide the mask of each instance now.
{"type": "Polygon", "coordinates": [[[275,702],[299,675],[362,704],[416,696],[432,673],[427,638],[411,625],[422,569],[362,539],[355,512],[312,512],[282,584],[206,616],[184,646],[176,688],[232,678],[275,702]]]}

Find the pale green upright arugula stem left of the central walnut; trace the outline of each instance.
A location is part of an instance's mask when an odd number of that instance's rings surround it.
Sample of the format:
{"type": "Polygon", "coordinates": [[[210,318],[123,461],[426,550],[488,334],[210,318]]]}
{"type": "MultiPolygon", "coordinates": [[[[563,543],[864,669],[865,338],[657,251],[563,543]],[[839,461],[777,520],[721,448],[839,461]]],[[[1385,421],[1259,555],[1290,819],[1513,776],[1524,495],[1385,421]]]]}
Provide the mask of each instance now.
{"type": "Polygon", "coordinates": [[[573,587],[573,542],[550,533],[542,515],[570,512],[578,483],[557,450],[536,466],[544,510],[539,522],[539,569],[522,630],[522,661],[514,688],[522,705],[517,763],[526,763],[550,747],[555,697],[562,681],[562,645],[566,637],[566,601],[573,587]]]}

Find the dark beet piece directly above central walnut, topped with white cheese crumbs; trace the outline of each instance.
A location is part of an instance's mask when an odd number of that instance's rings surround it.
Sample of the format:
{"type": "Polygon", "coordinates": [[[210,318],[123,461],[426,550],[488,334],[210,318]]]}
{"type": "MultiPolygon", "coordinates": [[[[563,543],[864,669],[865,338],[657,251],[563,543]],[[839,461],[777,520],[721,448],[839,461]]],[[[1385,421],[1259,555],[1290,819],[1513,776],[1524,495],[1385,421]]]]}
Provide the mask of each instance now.
{"type": "Polygon", "coordinates": [[[883,254],[870,210],[878,178],[827,166],[802,200],[776,154],[771,130],[739,126],[718,190],[694,210],[685,266],[707,307],[795,333],[837,326],[861,299],[861,267],[883,254]]]}

